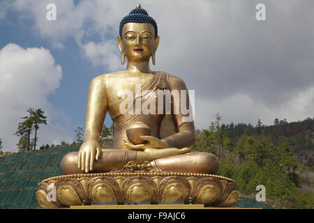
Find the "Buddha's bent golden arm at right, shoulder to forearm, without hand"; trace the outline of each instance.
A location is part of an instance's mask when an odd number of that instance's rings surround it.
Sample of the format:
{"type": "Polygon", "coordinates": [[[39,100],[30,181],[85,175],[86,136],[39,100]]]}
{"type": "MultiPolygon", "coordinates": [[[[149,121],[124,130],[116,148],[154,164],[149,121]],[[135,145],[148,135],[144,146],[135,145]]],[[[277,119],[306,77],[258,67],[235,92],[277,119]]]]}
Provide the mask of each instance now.
{"type": "Polygon", "coordinates": [[[174,148],[192,146],[195,142],[195,125],[188,89],[184,81],[179,77],[170,76],[170,85],[173,102],[172,118],[177,125],[177,133],[165,137],[163,141],[166,141],[169,147],[174,148]],[[179,97],[176,95],[175,90],[179,93],[179,97]],[[186,98],[186,103],[181,98],[186,98]],[[175,107],[177,107],[177,110],[175,107]]]}

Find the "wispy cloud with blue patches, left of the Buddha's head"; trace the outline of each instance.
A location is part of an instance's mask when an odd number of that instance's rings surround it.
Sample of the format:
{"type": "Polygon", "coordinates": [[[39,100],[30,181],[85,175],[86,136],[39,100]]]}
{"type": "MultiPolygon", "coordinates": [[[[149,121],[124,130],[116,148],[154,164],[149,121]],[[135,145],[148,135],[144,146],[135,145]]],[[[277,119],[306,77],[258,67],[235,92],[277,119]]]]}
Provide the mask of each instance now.
{"type": "Polygon", "coordinates": [[[21,17],[32,18],[35,29],[40,36],[51,40],[52,47],[63,49],[63,42],[67,38],[74,38],[80,47],[82,56],[91,61],[94,66],[104,66],[110,71],[121,68],[119,66],[119,53],[117,40],[104,38],[117,33],[119,14],[130,10],[130,3],[117,1],[32,1],[16,0],[13,8],[22,13],[21,17]],[[57,6],[57,20],[46,20],[46,6],[55,3],[57,6]],[[89,41],[92,35],[102,36],[100,43],[89,41]],[[88,40],[84,43],[84,40],[88,40]]]}

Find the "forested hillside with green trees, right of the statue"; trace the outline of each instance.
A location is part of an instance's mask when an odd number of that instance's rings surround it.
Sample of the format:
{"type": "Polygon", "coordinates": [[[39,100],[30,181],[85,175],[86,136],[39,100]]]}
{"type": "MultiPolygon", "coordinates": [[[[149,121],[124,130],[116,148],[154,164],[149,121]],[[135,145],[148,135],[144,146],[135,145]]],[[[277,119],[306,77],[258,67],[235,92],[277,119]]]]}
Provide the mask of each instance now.
{"type": "Polygon", "coordinates": [[[221,116],[209,128],[196,130],[192,151],[214,153],[218,174],[233,178],[242,195],[255,198],[264,185],[266,199],[275,208],[314,208],[314,118],[274,125],[221,124],[221,116]]]}

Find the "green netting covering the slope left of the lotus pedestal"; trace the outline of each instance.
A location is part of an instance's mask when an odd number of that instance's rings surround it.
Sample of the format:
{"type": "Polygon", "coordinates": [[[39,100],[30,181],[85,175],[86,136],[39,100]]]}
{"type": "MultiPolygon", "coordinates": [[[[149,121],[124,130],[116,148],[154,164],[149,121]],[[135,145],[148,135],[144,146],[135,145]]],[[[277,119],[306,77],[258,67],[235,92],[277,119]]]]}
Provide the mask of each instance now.
{"type": "Polygon", "coordinates": [[[0,208],[39,208],[36,199],[38,183],[61,175],[62,157],[79,148],[59,146],[0,157],[0,208]]]}

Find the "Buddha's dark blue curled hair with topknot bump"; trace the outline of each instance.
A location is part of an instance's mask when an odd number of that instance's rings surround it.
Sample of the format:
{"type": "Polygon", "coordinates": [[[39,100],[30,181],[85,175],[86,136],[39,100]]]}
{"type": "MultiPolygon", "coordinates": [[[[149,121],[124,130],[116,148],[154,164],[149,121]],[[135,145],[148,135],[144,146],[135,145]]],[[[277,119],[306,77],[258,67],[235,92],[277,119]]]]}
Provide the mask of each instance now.
{"type": "Polygon", "coordinates": [[[126,15],[121,22],[119,26],[119,36],[122,37],[122,27],[124,24],[128,22],[134,22],[134,23],[150,23],[154,26],[155,28],[155,38],[158,36],[158,29],[157,29],[157,24],[155,20],[150,17],[144,8],[135,8],[130,11],[130,14],[126,15]]]}

